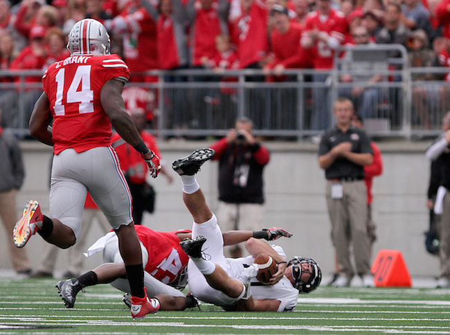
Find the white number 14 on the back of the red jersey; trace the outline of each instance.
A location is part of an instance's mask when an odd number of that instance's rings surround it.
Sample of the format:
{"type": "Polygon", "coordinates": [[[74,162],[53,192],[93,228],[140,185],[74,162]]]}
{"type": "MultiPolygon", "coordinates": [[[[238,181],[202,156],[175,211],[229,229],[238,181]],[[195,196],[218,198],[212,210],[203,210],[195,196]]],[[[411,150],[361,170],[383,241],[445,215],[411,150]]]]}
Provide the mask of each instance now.
{"type": "MultiPolygon", "coordinates": [[[[62,116],[65,114],[64,104],[62,103],[64,98],[64,75],[66,70],[60,69],[57,71],[55,80],[56,87],[56,100],[53,109],[55,114],[62,116]]],[[[93,112],[93,91],[91,90],[91,65],[80,65],[75,71],[69,89],[67,89],[66,103],[79,103],[78,112],[80,113],[92,113],[93,112]],[[78,91],[80,87],[81,91],[78,91]]]]}

